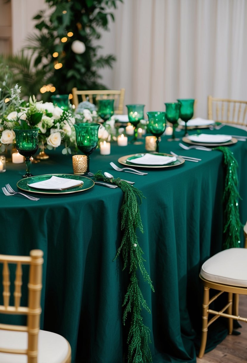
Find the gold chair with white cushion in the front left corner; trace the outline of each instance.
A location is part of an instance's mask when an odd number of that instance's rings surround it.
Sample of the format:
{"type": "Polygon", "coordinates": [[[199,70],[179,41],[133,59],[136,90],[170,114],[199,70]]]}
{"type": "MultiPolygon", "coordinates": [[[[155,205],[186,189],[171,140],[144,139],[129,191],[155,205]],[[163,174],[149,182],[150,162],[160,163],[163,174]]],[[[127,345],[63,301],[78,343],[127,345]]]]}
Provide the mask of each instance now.
{"type": "Polygon", "coordinates": [[[30,251],[30,256],[0,254],[3,265],[3,305],[0,314],[26,315],[27,324],[0,323],[0,362],[4,363],[71,363],[70,344],[61,335],[39,330],[43,252],[30,251]],[[14,305],[11,298],[9,264],[16,264],[14,305]],[[28,306],[21,306],[22,265],[29,265],[28,306]]]}

